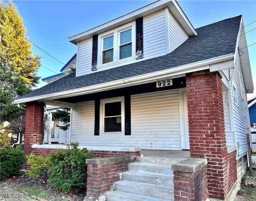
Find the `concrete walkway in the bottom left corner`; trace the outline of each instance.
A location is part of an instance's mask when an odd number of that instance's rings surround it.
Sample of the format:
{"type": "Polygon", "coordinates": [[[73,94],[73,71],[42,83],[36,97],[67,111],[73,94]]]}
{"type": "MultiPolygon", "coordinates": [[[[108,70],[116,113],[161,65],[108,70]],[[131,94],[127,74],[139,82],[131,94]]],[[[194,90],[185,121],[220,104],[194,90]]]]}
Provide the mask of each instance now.
{"type": "Polygon", "coordinates": [[[39,201],[36,197],[32,197],[27,196],[25,191],[20,192],[8,187],[4,182],[0,183],[0,201],[39,201]]]}

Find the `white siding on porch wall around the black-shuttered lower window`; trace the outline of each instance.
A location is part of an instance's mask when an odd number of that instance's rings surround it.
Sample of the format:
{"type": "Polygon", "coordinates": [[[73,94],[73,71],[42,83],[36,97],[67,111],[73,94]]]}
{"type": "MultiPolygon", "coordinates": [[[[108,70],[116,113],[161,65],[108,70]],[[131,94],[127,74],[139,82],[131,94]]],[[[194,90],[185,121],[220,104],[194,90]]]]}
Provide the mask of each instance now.
{"type": "Polygon", "coordinates": [[[72,112],[71,140],[81,146],[134,147],[181,150],[177,90],[131,96],[131,135],[94,136],[94,101],[76,103],[72,112]]]}

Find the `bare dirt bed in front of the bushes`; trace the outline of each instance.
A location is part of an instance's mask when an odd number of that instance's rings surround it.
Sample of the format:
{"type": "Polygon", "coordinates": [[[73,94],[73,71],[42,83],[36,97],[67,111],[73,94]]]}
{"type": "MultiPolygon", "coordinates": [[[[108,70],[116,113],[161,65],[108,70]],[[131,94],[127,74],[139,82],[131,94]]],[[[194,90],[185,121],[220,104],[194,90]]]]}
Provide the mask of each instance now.
{"type": "Polygon", "coordinates": [[[47,201],[83,201],[86,195],[86,191],[77,194],[62,193],[53,185],[44,182],[42,179],[30,179],[24,172],[22,172],[20,176],[4,179],[1,183],[2,182],[9,187],[24,190],[28,195],[35,195],[47,201]]]}

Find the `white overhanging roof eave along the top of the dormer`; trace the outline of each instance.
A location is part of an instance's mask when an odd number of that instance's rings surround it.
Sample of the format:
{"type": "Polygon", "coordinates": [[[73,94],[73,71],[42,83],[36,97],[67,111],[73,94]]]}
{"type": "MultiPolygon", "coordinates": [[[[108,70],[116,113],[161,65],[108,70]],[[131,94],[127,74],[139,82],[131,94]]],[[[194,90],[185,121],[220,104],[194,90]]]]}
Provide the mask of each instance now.
{"type": "Polygon", "coordinates": [[[129,22],[136,20],[137,18],[147,16],[149,14],[152,14],[154,12],[162,10],[166,7],[172,12],[174,17],[178,20],[178,22],[181,24],[181,26],[188,33],[189,36],[197,35],[195,28],[192,26],[191,22],[188,20],[188,18],[186,16],[186,14],[180,8],[180,5],[178,4],[178,2],[176,0],[171,0],[168,2],[166,2],[166,1],[154,2],[152,4],[149,4],[147,6],[140,8],[138,10],[130,12],[124,16],[116,18],[110,22],[107,22],[105,24],[102,24],[100,26],[92,28],[88,31],[79,33],[77,35],[71,36],[68,39],[71,43],[74,43],[76,45],[79,41],[90,38],[96,34],[106,32],[108,30],[111,30],[111,29],[121,26],[123,24],[127,24],[129,22]]]}

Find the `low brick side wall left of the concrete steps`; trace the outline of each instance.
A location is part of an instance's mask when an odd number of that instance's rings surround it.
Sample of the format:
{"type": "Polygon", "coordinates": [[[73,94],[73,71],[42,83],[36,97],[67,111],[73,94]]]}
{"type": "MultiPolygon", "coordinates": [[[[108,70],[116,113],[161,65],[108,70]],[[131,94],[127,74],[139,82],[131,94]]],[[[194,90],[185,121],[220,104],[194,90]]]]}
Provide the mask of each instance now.
{"type": "Polygon", "coordinates": [[[128,171],[133,156],[87,159],[88,197],[100,197],[101,193],[114,189],[114,183],[121,180],[120,173],[128,171]]]}

